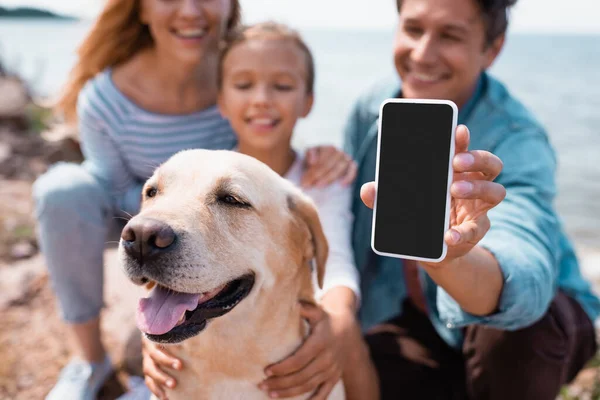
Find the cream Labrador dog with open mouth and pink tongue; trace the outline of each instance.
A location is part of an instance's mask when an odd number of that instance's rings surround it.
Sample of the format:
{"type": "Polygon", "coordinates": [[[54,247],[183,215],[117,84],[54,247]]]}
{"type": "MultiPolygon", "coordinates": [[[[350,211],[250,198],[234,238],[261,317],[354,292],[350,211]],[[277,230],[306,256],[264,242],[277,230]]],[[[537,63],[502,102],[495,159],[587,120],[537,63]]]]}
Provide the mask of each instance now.
{"type": "MultiPolygon", "coordinates": [[[[252,157],[187,150],[143,189],[123,229],[122,268],[151,287],[137,324],[185,364],[177,399],[268,399],[264,369],[308,335],[299,301],[314,303],[327,240],[312,201],[252,157]]],[[[306,399],[310,395],[294,397],[306,399]]],[[[340,381],[329,399],[344,399],[340,381]]]]}

